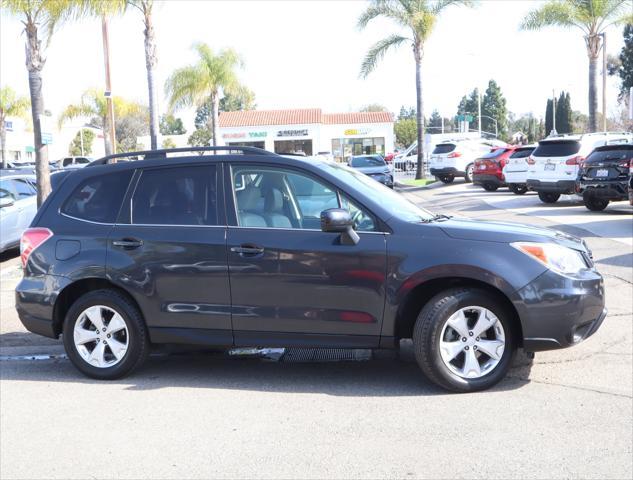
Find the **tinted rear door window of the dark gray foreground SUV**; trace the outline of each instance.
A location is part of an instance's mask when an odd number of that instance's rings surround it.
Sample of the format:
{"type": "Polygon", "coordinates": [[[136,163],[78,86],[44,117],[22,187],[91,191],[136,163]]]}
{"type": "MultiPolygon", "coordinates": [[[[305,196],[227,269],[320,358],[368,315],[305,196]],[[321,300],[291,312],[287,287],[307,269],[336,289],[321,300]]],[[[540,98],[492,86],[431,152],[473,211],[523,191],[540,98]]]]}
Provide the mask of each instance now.
{"type": "Polygon", "coordinates": [[[145,170],[132,199],[132,223],[217,225],[215,165],[145,170]]]}

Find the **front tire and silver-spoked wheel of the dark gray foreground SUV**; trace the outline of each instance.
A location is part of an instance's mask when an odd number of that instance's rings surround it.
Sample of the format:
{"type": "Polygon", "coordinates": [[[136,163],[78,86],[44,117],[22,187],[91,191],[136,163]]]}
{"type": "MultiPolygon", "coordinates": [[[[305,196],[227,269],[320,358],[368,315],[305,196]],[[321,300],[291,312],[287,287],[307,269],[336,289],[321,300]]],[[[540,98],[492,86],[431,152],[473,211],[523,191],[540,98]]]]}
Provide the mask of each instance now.
{"type": "MultiPolygon", "coordinates": [[[[505,377],[508,369],[512,365],[516,352],[516,336],[511,318],[511,313],[508,312],[493,295],[484,290],[456,288],[437,294],[429,300],[420,311],[413,329],[413,349],[418,365],[429,380],[446,390],[453,392],[475,392],[492,387],[505,377]],[[476,376],[477,374],[473,369],[468,370],[468,375],[472,373],[474,375],[473,378],[467,378],[457,373],[456,370],[459,370],[459,368],[455,365],[450,364],[451,366],[449,366],[449,363],[446,363],[443,358],[443,355],[447,354],[447,350],[440,348],[440,343],[445,339],[442,337],[442,334],[447,335],[449,331],[452,334],[457,333],[457,330],[451,330],[452,327],[448,326],[448,321],[454,314],[462,309],[468,312],[467,315],[473,316],[473,318],[469,320],[469,323],[466,324],[468,334],[472,334],[476,331],[476,324],[473,325],[476,311],[468,307],[486,309],[489,311],[489,316],[490,312],[492,312],[496,317],[496,321],[490,324],[493,325],[493,327],[489,327],[489,329],[480,333],[480,336],[483,337],[486,335],[486,337],[489,337],[492,333],[495,335],[495,337],[492,338],[493,342],[501,341],[500,337],[497,336],[497,328],[500,325],[502,327],[504,343],[503,352],[500,353],[498,359],[493,359],[481,350],[483,347],[480,347],[479,351],[475,348],[476,345],[482,345],[477,341],[477,339],[481,341],[480,337],[474,337],[473,335],[464,337],[467,339],[465,342],[466,346],[456,355],[453,362],[457,365],[463,362],[462,371],[464,371],[467,368],[466,355],[472,354],[472,356],[475,356],[475,361],[478,365],[477,368],[480,369],[483,367],[484,371],[480,370],[479,376],[476,376]],[[475,338],[475,340],[473,340],[473,338],[475,338]],[[473,345],[468,347],[471,343],[473,345]],[[477,358],[476,355],[479,355],[479,357],[477,358]],[[480,364],[480,361],[483,363],[480,364]],[[493,362],[494,365],[488,365],[489,362],[493,362]],[[488,365],[488,367],[486,367],[486,365],[488,365]],[[485,371],[486,369],[488,369],[487,372],[485,371]]],[[[468,335],[465,332],[464,334],[468,335]]],[[[484,338],[483,341],[486,342],[490,340],[484,338]]],[[[450,345],[451,343],[454,342],[445,343],[445,345],[450,345]]],[[[458,349],[459,346],[462,345],[459,337],[455,345],[458,349]]],[[[497,353],[499,353],[498,349],[497,353]]]]}

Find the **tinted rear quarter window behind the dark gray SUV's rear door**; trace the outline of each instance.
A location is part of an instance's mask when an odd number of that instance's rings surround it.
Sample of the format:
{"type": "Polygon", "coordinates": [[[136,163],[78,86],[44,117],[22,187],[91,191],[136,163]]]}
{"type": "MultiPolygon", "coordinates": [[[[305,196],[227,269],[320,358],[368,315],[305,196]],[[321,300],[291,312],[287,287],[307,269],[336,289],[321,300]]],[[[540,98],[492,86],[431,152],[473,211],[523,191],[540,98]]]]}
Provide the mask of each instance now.
{"type": "Polygon", "coordinates": [[[131,177],[132,170],[126,170],[84,181],[66,200],[62,213],[91,222],[114,223],[131,177]]]}

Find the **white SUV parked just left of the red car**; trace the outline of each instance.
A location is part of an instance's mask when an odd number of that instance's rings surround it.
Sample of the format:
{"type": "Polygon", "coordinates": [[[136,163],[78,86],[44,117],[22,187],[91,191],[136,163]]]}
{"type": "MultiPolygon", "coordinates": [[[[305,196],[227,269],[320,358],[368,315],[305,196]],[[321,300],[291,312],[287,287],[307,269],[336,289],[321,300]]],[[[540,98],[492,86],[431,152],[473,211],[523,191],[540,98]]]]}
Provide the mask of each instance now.
{"type": "Polygon", "coordinates": [[[491,146],[481,141],[439,143],[429,160],[431,175],[444,183],[451,183],[455,177],[463,177],[466,182],[472,182],[475,160],[490,150],[491,146]]]}

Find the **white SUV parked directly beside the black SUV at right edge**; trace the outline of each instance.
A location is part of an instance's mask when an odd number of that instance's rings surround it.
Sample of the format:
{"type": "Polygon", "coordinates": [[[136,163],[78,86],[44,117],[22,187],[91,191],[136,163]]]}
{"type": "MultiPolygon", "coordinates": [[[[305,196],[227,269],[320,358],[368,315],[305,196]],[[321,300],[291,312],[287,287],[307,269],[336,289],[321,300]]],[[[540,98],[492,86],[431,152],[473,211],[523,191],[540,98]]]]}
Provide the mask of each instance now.
{"type": "Polygon", "coordinates": [[[542,202],[555,203],[562,194],[576,193],[580,163],[594,148],[619,143],[633,143],[633,135],[596,132],[541,140],[528,158],[526,184],[542,202]]]}

